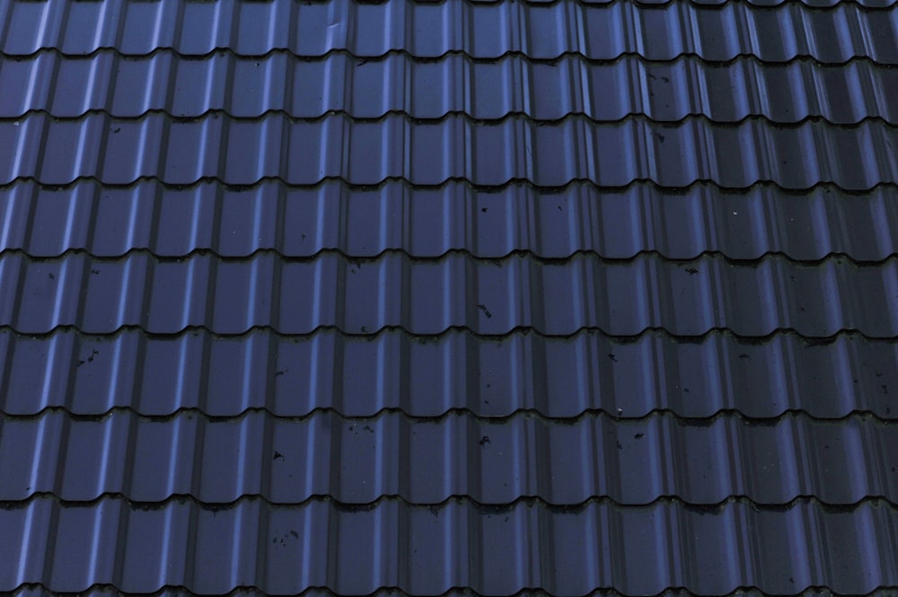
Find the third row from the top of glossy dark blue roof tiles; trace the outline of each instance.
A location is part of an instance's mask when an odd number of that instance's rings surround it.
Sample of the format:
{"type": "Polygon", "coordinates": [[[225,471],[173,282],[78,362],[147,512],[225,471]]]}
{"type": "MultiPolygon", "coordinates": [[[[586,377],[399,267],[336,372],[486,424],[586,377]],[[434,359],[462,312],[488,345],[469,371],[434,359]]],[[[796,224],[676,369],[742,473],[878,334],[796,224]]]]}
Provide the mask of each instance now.
{"type": "Polygon", "coordinates": [[[60,120],[37,113],[0,120],[0,184],[95,178],[127,185],[150,177],[170,184],[215,178],[251,185],[277,178],[317,185],[340,178],[359,185],[527,180],[558,187],[589,180],[624,187],[652,180],[685,187],[705,180],[737,189],[771,181],[785,189],[832,182],[867,190],[898,182],[895,137],[895,127],[876,120],[855,127],[820,120],[777,127],[763,119],[717,126],[704,118],[671,125],[638,117],[596,126],[571,117],[542,126],[517,117],[486,124],[458,114],[416,121],[399,114],[296,120],[278,113],[244,120],[214,112],[180,120],[158,112],[143,119],[91,113],[60,120]]]}

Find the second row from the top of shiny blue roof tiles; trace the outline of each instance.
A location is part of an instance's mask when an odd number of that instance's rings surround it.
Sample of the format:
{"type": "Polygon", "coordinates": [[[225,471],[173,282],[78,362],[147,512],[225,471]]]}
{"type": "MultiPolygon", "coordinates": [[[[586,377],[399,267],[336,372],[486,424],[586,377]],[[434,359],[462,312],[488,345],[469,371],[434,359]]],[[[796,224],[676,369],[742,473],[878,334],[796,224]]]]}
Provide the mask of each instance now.
{"type": "Polygon", "coordinates": [[[696,57],[648,62],[632,55],[594,64],[580,55],[546,63],[521,55],[482,62],[460,54],[434,61],[404,53],[360,59],[336,52],[308,60],[279,52],[261,58],[216,53],[197,60],[170,50],[137,58],[110,50],[86,58],[50,51],[0,62],[0,88],[7,90],[0,95],[0,118],[33,110],[62,118],[96,110],[116,118],[151,110],[198,118],[223,110],[234,118],[281,111],[314,119],[338,110],[360,119],[402,112],[415,119],[464,113],[474,119],[523,114],[557,120],[582,114],[614,122],[643,114],[665,122],[694,115],[721,123],[753,116],[778,123],[898,122],[887,93],[898,89],[898,70],[869,60],[824,68],[809,60],[771,65],[740,58],[721,65],[696,57]]]}

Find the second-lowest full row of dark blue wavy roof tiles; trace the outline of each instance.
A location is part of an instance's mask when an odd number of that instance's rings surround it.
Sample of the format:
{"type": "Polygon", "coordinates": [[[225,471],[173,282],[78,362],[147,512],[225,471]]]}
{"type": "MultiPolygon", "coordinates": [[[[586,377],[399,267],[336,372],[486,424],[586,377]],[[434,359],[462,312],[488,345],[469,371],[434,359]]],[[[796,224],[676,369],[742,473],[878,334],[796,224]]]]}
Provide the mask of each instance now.
{"type": "Polygon", "coordinates": [[[466,496],[482,505],[716,505],[744,496],[762,507],[875,496],[898,505],[898,425],[858,416],[759,425],[725,415],[691,425],[666,414],[568,423],[467,413],[420,421],[392,412],[286,420],[257,411],[158,422],[127,411],[96,421],[54,411],[0,419],[0,453],[0,503],[190,496],[213,506],[260,496],[296,505],[328,496],[367,505],[395,496],[436,505],[466,496]]]}

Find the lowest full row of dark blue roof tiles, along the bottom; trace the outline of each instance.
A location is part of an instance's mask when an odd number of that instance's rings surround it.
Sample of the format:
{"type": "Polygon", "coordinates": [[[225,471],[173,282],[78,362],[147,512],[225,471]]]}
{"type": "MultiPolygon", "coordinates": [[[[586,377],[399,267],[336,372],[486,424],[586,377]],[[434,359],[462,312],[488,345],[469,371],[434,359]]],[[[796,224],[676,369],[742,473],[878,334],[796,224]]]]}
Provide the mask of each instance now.
{"type": "Polygon", "coordinates": [[[770,511],[733,501],[709,514],[680,503],[558,512],[524,503],[434,509],[387,500],[346,510],[324,501],[244,500],[212,511],[189,501],[137,509],[120,499],[70,507],[41,498],[0,510],[0,526],[0,552],[13,561],[0,569],[4,591],[40,582],[60,592],[114,584],[152,593],[173,584],[207,594],[246,586],[368,594],[388,586],[436,595],[467,586],[579,595],[613,586],[629,594],[757,587],[783,595],[898,584],[898,509],[875,500],[770,511]],[[344,566],[353,574],[342,574],[344,566]]]}

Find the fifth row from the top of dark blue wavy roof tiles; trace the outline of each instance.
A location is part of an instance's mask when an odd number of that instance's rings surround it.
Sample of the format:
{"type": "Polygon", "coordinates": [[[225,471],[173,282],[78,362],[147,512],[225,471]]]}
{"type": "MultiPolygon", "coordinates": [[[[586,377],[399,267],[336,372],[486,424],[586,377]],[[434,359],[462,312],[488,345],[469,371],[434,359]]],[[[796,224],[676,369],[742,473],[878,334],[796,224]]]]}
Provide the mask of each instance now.
{"type": "Polygon", "coordinates": [[[871,338],[898,336],[898,259],[865,268],[847,259],[806,267],[769,257],[739,266],[719,257],[672,262],[652,254],[544,262],[385,253],[363,262],[339,253],[311,260],[273,253],[160,260],[143,252],[104,260],[77,253],[48,261],[11,253],[0,258],[0,286],[18,289],[0,295],[0,324],[25,334],[138,326],[159,334],[195,327],[309,334],[332,327],[356,334],[465,328],[502,335],[524,328],[550,336],[581,329],[700,336],[730,329],[767,336],[794,329],[830,337],[857,329],[871,338]]]}

